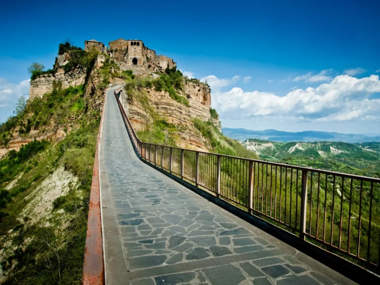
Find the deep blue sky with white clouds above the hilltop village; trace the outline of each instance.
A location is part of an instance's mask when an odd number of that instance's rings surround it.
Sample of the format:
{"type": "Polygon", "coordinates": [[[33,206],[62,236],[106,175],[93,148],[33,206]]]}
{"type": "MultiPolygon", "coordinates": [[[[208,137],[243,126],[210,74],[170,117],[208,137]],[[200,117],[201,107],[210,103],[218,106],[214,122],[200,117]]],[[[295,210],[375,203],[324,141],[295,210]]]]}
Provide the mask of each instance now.
{"type": "Polygon", "coordinates": [[[380,2],[6,1],[0,121],[58,44],[141,39],[207,80],[224,127],[380,134],[380,2]],[[333,3],[332,3],[333,2],[333,3]]]}

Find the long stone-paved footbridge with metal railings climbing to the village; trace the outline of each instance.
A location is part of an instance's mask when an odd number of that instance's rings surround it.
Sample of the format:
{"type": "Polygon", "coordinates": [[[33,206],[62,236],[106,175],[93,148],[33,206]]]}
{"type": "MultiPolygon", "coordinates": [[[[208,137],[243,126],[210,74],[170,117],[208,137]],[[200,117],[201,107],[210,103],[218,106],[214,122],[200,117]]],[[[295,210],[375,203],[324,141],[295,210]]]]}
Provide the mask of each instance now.
{"type": "Polygon", "coordinates": [[[355,260],[370,269],[379,266],[379,256],[368,253],[379,246],[379,228],[373,226],[371,238],[371,217],[380,180],[141,142],[114,92],[117,88],[106,91],[99,129],[84,284],[379,281],[355,260]],[[344,220],[353,216],[356,181],[360,221],[364,195],[371,195],[364,255],[361,227],[359,240],[348,230],[346,241],[342,232],[344,220]],[[327,198],[322,201],[330,182],[341,191],[341,196],[332,194],[332,207],[327,198]],[[308,200],[307,191],[309,197],[312,191],[318,194],[316,203],[308,200]],[[346,203],[349,213],[343,211],[346,203]],[[335,208],[340,211],[334,214],[335,208]],[[334,227],[335,219],[340,227],[334,227]],[[355,246],[357,252],[351,249],[355,246]]]}

